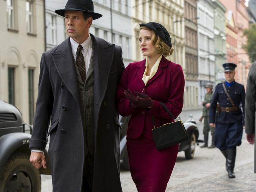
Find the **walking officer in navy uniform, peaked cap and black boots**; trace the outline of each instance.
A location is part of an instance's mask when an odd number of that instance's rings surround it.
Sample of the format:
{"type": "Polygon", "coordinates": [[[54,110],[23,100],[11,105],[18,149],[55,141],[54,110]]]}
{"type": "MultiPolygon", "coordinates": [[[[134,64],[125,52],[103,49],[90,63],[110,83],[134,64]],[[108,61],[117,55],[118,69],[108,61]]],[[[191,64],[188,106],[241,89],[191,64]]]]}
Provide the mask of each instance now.
{"type": "Polygon", "coordinates": [[[235,178],[236,146],[241,145],[243,134],[245,88],[234,81],[236,64],[224,63],[223,67],[226,81],[219,83],[215,88],[211,99],[209,122],[211,126],[216,127],[215,146],[226,157],[228,177],[235,178]]]}

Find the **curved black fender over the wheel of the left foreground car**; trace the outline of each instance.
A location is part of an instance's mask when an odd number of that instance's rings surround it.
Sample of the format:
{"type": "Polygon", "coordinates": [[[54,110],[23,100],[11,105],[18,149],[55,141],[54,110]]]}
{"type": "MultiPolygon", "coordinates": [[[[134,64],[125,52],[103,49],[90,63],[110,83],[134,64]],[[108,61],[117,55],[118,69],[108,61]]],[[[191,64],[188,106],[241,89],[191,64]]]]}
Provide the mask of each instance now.
{"type": "MultiPolygon", "coordinates": [[[[29,143],[31,135],[28,133],[9,133],[0,137],[0,173],[3,171],[4,165],[8,158],[14,152],[22,152],[30,155],[29,143]]],[[[47,169],[41,168],[41,174],[50,175],[50,164],[48,151],[44,151],[47,169]]]]}

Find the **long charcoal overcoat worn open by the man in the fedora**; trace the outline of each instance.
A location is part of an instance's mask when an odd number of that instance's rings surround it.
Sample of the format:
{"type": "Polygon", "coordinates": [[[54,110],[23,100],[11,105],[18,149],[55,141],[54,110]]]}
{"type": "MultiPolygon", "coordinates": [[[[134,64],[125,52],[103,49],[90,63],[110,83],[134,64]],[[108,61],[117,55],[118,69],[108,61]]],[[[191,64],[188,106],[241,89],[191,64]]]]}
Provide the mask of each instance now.
{"type": "MultiPolygon", "coordinates": [[[[95,163],[93,192],[120,192],[120,124],[115,92],[124,65],[120,46],[91,35],[94,44],[95,163]]],[[[84,138],[81,96],[66,39],[41,58],[39,92],[30,148],[45,149],[50,135],[53,191],[80,192],[83,182],[84,138]],[[51,122],[51,123],[50,123],[51,122]],[[48,131],[49,124],[51,124],[48,131]]],[[[49,165],[48,165],[49,166],[49,165]]]]}

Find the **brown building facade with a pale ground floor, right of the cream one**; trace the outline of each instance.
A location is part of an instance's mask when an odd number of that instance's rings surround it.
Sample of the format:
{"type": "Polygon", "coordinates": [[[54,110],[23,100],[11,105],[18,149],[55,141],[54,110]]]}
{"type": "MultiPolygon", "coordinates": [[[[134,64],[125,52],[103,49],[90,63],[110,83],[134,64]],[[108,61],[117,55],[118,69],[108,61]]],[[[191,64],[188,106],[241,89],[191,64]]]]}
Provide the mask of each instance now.
{"type": "Polygon", "coordinates": [[[184,108],[198,107],[197,2],[184,1],[186,87],[184,108]]]}

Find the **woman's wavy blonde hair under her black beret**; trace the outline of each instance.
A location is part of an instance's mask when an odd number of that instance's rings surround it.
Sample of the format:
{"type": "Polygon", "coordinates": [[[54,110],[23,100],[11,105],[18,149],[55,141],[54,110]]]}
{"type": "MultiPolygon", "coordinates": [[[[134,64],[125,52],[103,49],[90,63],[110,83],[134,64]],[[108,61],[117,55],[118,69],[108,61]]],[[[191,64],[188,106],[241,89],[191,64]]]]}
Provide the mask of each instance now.
{"type": "Polygon", "coordinates": [[[173,54],[174,49],[168,46],[160,37],[158,34],[156,34],[153,30],[150,30],[149,28],[145,26],[141,26],[141,29],[148,30],[152,32],[151,42],[152,45],[155,46],[155,51],[158,54],[162,54],[164,57],[168,57],[171,54],[173,54]]]}

